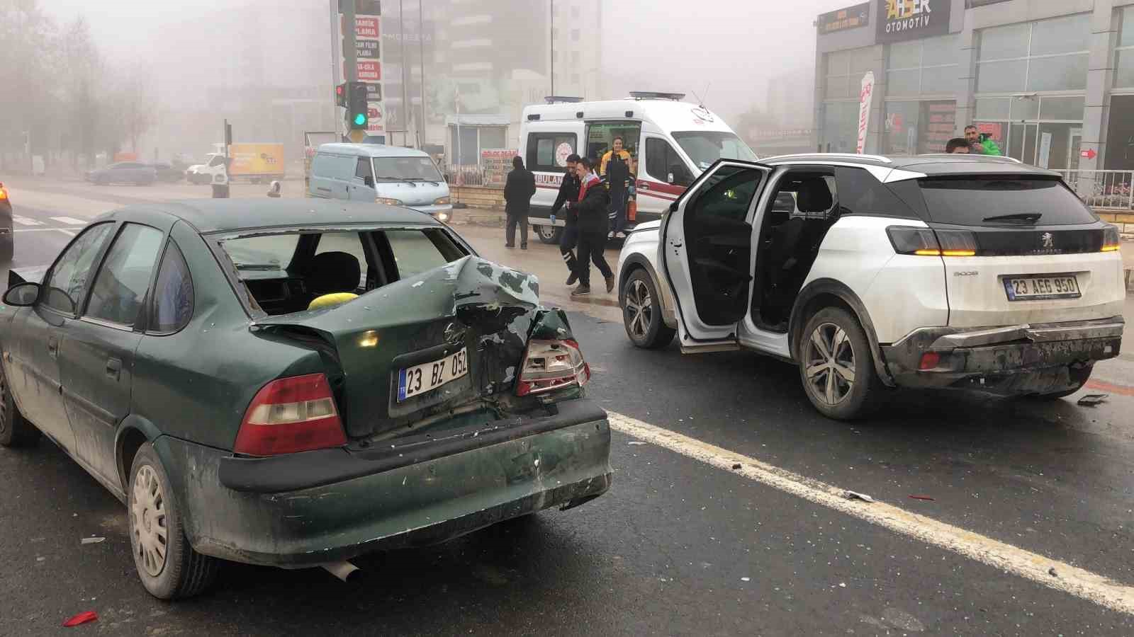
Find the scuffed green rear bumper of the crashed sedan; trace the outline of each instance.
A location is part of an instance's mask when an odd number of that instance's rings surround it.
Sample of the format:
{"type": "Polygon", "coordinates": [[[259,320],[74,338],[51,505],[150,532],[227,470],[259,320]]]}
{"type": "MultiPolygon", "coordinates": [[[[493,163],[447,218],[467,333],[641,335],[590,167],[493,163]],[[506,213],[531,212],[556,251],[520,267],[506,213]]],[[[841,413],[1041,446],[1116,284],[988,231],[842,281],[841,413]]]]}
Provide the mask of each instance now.
{"type": "Polygon", "coordinates": [[[606,413],[585,399],[558,409],[501,421],[480,435],[439,435],[432,448],[391,439],[379,443],[387,448],[381,451],[329,450],[333,458],[237,459],[169,436],[158,444],[172,465],[167,470],[179,487],[194,549],[303,568],[435,544],[601,495],[612,476],[606,413]]]}

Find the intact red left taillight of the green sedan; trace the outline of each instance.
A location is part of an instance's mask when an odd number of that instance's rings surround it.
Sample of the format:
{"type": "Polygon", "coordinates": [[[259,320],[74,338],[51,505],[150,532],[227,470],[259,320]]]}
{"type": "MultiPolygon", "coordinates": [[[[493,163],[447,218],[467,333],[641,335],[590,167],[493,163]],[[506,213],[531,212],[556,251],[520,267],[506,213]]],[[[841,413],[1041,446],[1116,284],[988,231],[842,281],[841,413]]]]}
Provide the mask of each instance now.
{"type": "Polygon", "coordinates": [[[247,456],[276,456],[346,443],[327,376],[307,374],[272,381],[256,393],[232,450],[247,456]]]}

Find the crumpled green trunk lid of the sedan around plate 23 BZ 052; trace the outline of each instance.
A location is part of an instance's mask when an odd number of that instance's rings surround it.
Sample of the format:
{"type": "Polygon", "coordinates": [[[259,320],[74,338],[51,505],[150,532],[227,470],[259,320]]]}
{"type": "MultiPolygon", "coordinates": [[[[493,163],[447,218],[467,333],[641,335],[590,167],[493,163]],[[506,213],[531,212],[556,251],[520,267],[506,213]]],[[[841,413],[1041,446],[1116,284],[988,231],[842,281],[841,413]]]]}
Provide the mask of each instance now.
{"type": "MultiPolygon", "coordinates": [[[[510,389],[539,311],[539,280],[475,256],[253,330],[314,334],[335,348],[347,435],[370,436],[510,389]],[[467,353],[467,374],[398,400],[400,370],[467,353]]],[[[552,321],[558,329],[559,321],[552,321]]]]}

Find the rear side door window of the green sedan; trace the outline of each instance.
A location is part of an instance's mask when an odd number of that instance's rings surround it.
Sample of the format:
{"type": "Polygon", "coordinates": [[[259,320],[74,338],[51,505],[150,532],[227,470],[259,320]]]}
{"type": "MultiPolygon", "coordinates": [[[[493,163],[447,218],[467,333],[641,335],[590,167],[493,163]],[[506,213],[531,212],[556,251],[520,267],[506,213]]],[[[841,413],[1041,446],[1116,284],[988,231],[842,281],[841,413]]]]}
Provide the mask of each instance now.
{"type": "Polygon", "coordinates": [[[87,316],[128,326],[137,322],[161,250],[161,238],[160,230],[147,226],[122,227],[94,278],[87,316]]]}

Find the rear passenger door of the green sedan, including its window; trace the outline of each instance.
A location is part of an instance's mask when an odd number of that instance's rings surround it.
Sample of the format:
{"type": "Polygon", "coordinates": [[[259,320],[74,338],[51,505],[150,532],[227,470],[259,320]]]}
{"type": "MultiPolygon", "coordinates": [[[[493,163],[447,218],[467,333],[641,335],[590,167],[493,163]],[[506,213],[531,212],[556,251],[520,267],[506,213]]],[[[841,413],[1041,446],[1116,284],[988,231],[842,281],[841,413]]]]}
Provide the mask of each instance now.
{"type": "Polygon", "coordinates": [[[115,440],[130,409],[138,321],[162,239],[155,228],[120,224],[59,354],[78,459],[115,486],[120,484],[115,440]]]}

